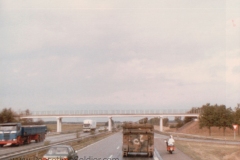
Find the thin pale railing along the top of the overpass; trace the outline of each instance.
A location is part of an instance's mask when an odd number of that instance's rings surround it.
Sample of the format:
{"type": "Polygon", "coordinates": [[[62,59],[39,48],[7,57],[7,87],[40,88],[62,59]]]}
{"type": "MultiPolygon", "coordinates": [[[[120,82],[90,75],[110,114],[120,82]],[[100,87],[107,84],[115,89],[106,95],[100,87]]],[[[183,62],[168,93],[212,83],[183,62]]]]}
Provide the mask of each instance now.
{"type": "Polygon", "coordinates": [[[32,111],[30,115],[127,115],[127,114],[199,114],[201,110],[189,109],[146,109],[146,110],[59,110],[32,111]]]}

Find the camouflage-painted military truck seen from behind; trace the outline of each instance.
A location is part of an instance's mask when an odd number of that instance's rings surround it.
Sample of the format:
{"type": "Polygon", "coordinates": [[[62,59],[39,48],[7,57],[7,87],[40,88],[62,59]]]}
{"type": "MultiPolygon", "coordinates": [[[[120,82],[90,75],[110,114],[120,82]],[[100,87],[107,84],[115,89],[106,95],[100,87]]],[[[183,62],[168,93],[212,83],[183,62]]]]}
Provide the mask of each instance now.
{"type": "Polygon", "coordinates": [[[154,152],[154,129],[153,125],[146,123],[147,120],[139,120],[138,123],[123,123],[122,156],[129,153],[146,153],[153,157],[154,152]]]}

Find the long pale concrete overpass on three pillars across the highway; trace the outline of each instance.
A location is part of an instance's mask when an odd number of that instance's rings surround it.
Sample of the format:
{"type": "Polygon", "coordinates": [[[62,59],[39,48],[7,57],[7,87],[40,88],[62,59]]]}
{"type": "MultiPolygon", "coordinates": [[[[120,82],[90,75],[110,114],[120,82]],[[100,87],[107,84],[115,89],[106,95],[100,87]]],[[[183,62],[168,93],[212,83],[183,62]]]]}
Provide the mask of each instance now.
{"type": "Polygon", "coordinates": [[[63,118],[76,117],[107,117],[108,130],[112,131],[111,119],[113,117],[158,117],[160,118],[159,130],[163,131],[163,117],[199,117],[200,110],[184,110],[184,109],[165,109],[165,110],[65,110],[65,111],[34,111],[28,115],[20,116],[24,118],[56,118],[57,132],[62,132],[63,118]]]}

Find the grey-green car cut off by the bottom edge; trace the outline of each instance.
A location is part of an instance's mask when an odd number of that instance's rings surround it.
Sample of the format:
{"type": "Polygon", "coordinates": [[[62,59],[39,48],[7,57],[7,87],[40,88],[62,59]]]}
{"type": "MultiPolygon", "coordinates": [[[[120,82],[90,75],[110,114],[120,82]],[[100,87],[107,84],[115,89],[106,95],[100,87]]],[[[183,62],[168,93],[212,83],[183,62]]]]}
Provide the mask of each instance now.
{"type": "Polygon", "coordinates": [[[49,148],[42,160],[61,159],[61,160],[77,160],[78,155],[69,145],[56,145],[49,148]]]}

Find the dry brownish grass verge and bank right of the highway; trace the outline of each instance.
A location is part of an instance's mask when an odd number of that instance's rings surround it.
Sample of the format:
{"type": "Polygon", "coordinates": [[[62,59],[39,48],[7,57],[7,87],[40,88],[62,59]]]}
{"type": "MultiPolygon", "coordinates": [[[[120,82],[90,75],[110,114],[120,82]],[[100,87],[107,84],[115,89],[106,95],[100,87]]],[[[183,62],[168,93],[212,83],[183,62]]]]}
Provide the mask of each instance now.
{"type": "MultiPolygon", "coordinates": [[[[157,128],[156,128],[157,129],[157,128]]],[[[234,131],[226,129],[225,136],[223,129],[212,127],[212,135],[209,136],[207,128],[199,128],[198,122],[193,122],[188,126],[179,130],[164,128],[165,131],[192,134],[203,136],[206,138],[217,138],[222,140],[240,141],[240,136],[237,134],[234,140],[234,131]]],[[[188,142],[176,139],[176,147],[185,154],[192,157],[194,160],[240,160],[240,145],[228,145],[218,143],[205,142],[188,142]]]]}

